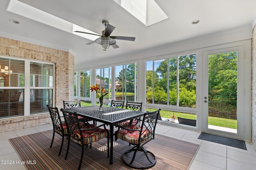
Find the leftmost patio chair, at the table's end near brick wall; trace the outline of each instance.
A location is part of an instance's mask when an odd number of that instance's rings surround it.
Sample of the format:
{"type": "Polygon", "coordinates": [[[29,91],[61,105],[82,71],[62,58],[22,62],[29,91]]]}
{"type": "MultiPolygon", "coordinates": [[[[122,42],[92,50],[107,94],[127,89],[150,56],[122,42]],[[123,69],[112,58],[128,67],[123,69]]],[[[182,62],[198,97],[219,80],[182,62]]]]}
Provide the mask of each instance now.
{"type": "Polygon", "coordinates": [[[53,134],[52,134],[52,143],[50,148],[52,148],[52,144],[54,141],[54,135],[55,132],[58,133],[60,136],[62,136],[62,141],[61,141],[61,145],[60,145],[60,152],[59,152],[59,156],[63,147],[63,142],[64,142],[64,136],[68,135],[67,131],[66,131],[66,124],[64,121],[61,121],[61,117],[60,113],[58,111],[57,107],[50,107],[49,105],[47,105],[49,112],[50,112],[50,117],[52,119],[52,125],[53,125],[53,134]]]}

